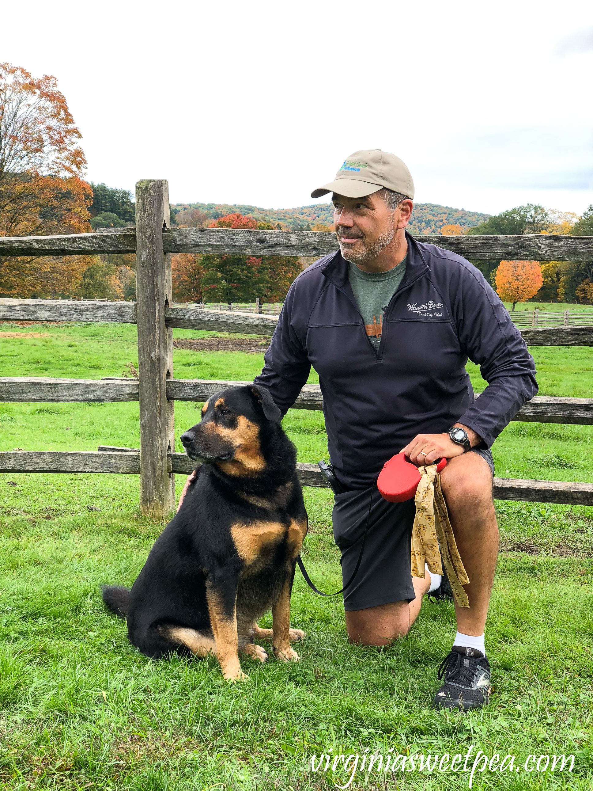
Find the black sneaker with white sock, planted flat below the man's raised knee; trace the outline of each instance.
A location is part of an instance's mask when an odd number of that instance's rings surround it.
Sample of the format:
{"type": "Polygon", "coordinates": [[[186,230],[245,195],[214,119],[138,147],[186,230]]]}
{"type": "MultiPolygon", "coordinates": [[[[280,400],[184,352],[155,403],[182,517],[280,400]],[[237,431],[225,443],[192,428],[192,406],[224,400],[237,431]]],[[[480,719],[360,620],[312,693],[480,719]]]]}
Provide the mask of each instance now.
{"type": "Polygon", "coordinates": [[[482,651],[454,645],[440,663],[444,684],[434,696],[436,709],[480,709],[489,702],[490,665],[482,651]]]}

